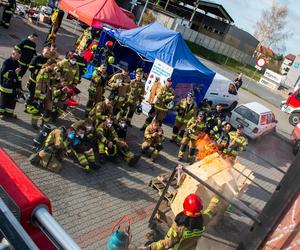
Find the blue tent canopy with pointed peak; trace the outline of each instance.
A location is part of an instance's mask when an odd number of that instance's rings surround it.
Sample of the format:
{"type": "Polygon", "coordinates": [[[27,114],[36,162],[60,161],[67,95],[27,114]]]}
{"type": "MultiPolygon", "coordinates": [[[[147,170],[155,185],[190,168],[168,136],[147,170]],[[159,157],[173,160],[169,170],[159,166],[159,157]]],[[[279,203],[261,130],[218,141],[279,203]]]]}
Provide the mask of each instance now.
{"type": "MultiPolygon", "coordinates": [[[[152,23],[131,30],[109,30],[121,44],[154,62],[157,58],[174,68],[174,75],[183,76],[186,83],[201,77],[210,85],[215,73],[193,55],[181,34],[159,23],[152,23]]],[[[181,80],[182,81],[182,80],[181,80]]]]}

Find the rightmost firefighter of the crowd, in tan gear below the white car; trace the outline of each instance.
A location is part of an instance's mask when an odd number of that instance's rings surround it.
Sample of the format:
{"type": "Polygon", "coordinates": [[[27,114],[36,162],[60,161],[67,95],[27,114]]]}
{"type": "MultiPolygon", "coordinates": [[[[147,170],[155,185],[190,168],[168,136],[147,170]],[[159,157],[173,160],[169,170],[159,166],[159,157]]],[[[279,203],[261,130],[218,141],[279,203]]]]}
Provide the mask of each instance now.
{"type": "Polygon", "coordinates": [[[243,135],[244,132],[244,126],[242,124],[239,124],[237,126],[236,131],[229,132],[230,137],[230,143],[228,146],[228,152],[230,155],[236,157],[241,152],[246,150],[246,147],[248,146],[248,140],[243,135]]]}

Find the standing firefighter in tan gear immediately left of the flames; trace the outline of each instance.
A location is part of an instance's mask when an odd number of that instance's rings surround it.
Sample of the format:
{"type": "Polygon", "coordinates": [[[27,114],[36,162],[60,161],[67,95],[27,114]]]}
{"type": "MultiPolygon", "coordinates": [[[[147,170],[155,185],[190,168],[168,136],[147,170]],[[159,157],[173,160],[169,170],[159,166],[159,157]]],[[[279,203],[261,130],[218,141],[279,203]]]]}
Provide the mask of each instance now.
{"type": "Polygon", "coordinates": [[[205,113],[200,111],[197,117],[191,118],[191,120],[187,123],[178,152],[179,161],[183,160],[187,147],[189,147],[188,162],[193,163],[195,161],[196,140],[204,135],[206,131],[207,124],[205,122],[205,113]]]}

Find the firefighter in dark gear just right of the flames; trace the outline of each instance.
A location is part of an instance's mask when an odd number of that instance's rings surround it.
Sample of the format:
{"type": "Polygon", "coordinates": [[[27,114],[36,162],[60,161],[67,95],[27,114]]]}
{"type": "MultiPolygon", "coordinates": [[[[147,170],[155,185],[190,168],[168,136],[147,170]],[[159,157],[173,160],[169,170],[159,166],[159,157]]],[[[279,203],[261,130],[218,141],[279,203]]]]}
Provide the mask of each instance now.
{"type": "Polygon", "coordinates": [[[212,135],[212,139],[217,146],[217,148],[227,154],[229,153],[228,146],[230,144],[229,132],[231,130],[231,124],[229,122],[223,123],[223,126],[215,126],[210,134],[212,135]]]}

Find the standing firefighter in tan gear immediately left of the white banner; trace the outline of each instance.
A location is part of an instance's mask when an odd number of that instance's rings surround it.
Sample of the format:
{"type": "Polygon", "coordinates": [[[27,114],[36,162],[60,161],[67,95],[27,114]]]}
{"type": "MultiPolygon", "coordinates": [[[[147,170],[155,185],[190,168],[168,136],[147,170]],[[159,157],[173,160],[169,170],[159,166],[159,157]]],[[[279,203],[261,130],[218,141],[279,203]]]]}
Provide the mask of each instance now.
{"type": "Polygon", "coordinates": [[[145,85],[142,81],[143,79],[143,69],[138,68],[135,71],[135,79],[130,82],[130,92],[128,95],[128,101],[126,103],[128,113],[126,116],[127,125],[131,127],[131,120],[136,111],[137,107],[141,105],[144,94],[145,94],[145,85]]]}

